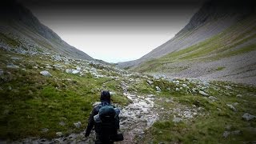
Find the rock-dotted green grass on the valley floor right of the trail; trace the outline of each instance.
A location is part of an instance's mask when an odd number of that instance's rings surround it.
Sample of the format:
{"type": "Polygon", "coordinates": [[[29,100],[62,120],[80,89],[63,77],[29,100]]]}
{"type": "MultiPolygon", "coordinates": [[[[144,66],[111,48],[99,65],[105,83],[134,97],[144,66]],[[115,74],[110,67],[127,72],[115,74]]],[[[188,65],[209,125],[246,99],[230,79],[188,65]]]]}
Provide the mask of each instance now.
{"type": "MultiPolygon", "coordinates": [[[[241,143],[253,142],[256,133],[251,127],[256,126],[256,120],[246,122],[242,120],[244,113],[256,114],[256,88],[242,86],[227,82],[210,82],[204,86],[200,82],[190,82],[178,79],[179,84],[166,80],[154,80],[152,86],[146,81],[130,86],[130,92],[138,94],[155,94],[157,111],[160,114],[158,122],[146,131],[142,143],[241,143]],[[186,84],[189,88],[176,90],[186,84]],[[154,86],[159,86],[161,92],[155,91],[154,86]],[[192,92],[192,89],[195,92],[192,92]],[[198,94],[204,90],[207,94],[217,98],[216,101],[198,94]],[[238,94],[242,98],[237,97],[238,94]],[[171,100],[171,102],[166,101],[171,100]],[[234,105],[237,111],[231,110],[226,104],[234,105]],[[201,107],[201,108],[199,108],[201,107]],[[194,118],[184,119],[182,122],[173,122],[174,115],[181,114],[175,109],[183,110],[200,109],[194,118]],[[230,130],[226,127],[230,126],[230,130]],[[223,138],[224,131],[241,130],[240,134],[230,134],[223,138]]],[[[139,139],[139,138],[138,138],[139,139]]]]}

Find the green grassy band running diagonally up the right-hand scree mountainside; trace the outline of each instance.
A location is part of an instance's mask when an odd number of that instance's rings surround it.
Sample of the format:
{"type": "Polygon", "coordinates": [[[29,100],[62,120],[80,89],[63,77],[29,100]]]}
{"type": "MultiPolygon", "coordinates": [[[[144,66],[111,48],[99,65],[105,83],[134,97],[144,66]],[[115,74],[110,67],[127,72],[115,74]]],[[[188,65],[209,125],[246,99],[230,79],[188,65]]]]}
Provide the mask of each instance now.
{"type": "MultiPolygon", "coordinates": [[[[242,46],[239,49],[234,49],[234,47],[256,38],[255,19],[254,16],[246,18],[222,31],[222,33],[214,35],[212,38],[208,38],[186,49],[166,54],[162,58],[155,58],[144,62],[140,66],[136,66],[134,70],[148,73],[158,71],[169,72],[173,71],[173,69],[168,66],[166,67],[168,63],[214,61],[256,50],[255,42],[250,45],[242,46]]],[[[178,70],[178,68],[175,68],[175,70],[178,70]]]]}

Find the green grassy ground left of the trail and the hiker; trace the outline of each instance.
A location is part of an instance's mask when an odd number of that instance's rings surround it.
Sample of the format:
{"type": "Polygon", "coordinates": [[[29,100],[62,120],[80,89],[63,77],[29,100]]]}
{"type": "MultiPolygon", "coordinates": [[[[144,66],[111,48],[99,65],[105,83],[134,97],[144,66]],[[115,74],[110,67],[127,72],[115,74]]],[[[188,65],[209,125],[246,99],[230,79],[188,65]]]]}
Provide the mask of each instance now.
{"type": "Polygon", "coordinates": [[[58,131],[70,134],[84,130],[92,104],[99,100],[101,90],[116,92],[113,101],[118,105],[129,103],[122,96],[119,82],[113,78],[94,78],[90,74],[81,77],[56,69],[49,70],[53,77],[48,78],[39,74],[45,70],[46,64],[64,63],[52,62],[50,58],[8,54],[1,50],[0,67],[4,74],[0,76],[0,139],[28,136],[54,138],[58,131]],[[10,59],[15,56],[22,59],[10,59]],[[21,68],[6,68],[8,63],[21,68]],[[37,65],[38,69],[35,69],[33,66],[37,65]],[[82,122],[82,127],[75,128],[74,122],[78,121],[82,122]],[[59,122],[65,122],[66,125],[60,126],[59,122]],[[44,128],[49,131],[43,133],[44,128]]]}

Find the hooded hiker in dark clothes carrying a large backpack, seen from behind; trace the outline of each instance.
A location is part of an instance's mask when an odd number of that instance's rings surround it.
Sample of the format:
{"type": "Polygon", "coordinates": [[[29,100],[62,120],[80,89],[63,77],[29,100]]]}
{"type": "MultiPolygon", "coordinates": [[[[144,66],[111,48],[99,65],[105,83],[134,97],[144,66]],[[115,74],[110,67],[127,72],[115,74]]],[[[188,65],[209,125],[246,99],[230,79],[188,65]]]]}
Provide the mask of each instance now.
{"type": "Polygon", "coordinates": [[[111,105],[109,91],[102,91],[100,100],[101,103],[94,106],[90,113],[85,136],[88,137],[94,128],[95,144],[111,144],[122,141],[122,134],[118,134],[120,110],[111,105]]]}

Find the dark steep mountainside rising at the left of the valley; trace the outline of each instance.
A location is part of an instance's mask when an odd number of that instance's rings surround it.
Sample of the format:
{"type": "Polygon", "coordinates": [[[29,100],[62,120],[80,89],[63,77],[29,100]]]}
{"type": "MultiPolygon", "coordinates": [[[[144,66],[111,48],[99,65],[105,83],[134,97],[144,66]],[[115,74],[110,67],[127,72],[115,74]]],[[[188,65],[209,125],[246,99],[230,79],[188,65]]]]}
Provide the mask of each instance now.
{"type": "Polygon", "coordinates": [[[20,54],[55,54],[93,60],[81,50],[64,42],[58,34],[42,25],[30,10],[15,1],[0,6],[0,48],[20,54]]]}

